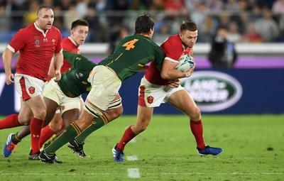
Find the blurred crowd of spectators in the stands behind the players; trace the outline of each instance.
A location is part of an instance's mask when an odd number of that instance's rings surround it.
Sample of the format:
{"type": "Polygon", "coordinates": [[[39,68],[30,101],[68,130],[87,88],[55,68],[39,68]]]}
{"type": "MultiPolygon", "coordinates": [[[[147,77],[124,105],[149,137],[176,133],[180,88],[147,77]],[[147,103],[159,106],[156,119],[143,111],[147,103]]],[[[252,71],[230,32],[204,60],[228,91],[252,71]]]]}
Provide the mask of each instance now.
{"type": "Polygon", "coordinates": [[[87,43],[109,43],[133,34],[138,15],[155,19],[153,39],[161,43],[178,33],[182,21],[199,26],[197,43],[209,43],[219,26],[234,43],[283,43],[284,0],[0,0],[0,43],[35,22],[39,6],[53,8],[53,26],[69,35],[72,21],[89,21],[87,43]]]}

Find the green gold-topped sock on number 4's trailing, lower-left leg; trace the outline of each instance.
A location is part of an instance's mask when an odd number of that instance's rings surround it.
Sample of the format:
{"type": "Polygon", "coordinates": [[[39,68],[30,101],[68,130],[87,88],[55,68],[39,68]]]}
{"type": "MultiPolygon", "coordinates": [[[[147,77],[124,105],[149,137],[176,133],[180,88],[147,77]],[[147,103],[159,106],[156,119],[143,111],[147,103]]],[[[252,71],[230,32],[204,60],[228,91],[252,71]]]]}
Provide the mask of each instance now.
{"type": "Polygon", "coordinates": [[[48,155],[55,153],[56,150],[64,146],[65,143],[72,141],[72,139],[78,136],[81,132],[81,128],[73,122],[70,126],[67,126],[63,133],[58,136],[55,141],[50,143],[50,145],[44,149],[45,153],[48,153],[48,155]]]}

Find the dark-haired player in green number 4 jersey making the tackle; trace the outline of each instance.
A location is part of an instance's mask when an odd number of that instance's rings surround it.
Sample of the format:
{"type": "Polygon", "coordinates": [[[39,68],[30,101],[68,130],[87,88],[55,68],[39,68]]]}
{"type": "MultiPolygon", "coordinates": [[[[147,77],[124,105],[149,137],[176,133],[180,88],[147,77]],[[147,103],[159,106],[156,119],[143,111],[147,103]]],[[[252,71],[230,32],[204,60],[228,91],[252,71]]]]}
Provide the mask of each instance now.
{"type": "MultiPolygon", "coordinates": [[[[92,121],[97,121],[97,118],[102,116],[102,112],[109,108],[124,79],[139,72],[142,67],[152,60],[158,66],[162,65],[163,50],[151,40],[154,24],[153,19],[147,14],[139,16],[136,19],[136,32],[134,35],[121,40],[114,53],[93,68],[88,77],[88,82],[90,82],[92,88],[90,88],[91,90],[84,102],[82,115],[40,153],[39,158],[41,161],[58,163],[55,151],[84,133],[84,131],[89,130],[89,127],[96,125],[92,124],[92,121]]],[[[70,94],[75,94],[75,92],[70,92],[70,94]]],[[[94,131],[92,128],[90,130],[90,132],[94,131]]],[[[86,135],[89,135],[89,133],[86,133],[86,135]]]]}

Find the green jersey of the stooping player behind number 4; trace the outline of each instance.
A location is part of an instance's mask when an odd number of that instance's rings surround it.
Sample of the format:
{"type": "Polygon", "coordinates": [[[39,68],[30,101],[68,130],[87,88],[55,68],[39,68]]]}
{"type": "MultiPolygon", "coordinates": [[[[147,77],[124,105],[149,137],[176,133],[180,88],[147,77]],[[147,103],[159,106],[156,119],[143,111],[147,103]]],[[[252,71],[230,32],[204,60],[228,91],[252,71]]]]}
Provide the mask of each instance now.
{"type": "Polygon", "coordinates": [[[87,57],[63,50],[63,57],[70,62],[72,67],[67,72],[62,73],[58,85],[67,97],[78,97],[83,93],[89,93],[92,86],[87,81],[89,73],[95,64],[87,57]]]}

